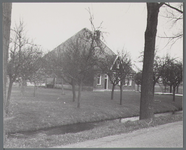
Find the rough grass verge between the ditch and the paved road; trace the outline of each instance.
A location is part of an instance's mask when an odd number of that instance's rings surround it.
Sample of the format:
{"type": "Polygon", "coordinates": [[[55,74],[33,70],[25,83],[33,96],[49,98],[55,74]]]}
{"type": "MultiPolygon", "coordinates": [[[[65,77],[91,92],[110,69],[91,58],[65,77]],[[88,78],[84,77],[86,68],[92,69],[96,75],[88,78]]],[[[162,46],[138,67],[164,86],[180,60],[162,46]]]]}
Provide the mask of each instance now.
{"type": "Polygon", "coordinates": [[[128,133],[137,129],[153,127],[175,121],[182,121],[182,114],[160,116],[152,120],[128,121],[126,123],[109,122],[103,126],[78,133],[68,133],[64,135],[38,134],[27,139],[9,138],[4,145],[5,148],[49,148],[62,146],[86,140],[97,139],[109,135],[128,133]]]}

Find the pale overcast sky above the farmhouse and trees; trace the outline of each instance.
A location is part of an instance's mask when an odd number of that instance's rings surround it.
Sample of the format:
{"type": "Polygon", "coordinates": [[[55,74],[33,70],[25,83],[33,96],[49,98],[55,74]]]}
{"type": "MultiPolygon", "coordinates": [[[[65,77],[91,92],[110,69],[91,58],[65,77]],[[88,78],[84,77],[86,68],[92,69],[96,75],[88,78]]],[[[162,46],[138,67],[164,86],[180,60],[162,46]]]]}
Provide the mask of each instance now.
{"type": "MultiPolygon", "coordinates": [[[[103,22],[101,30],[109,48],[115,53],[124,49],[131,55],[133,63],[140,60],[147,19],[145,3],[13,3],[11,27],[23,20],[27,37],[47,52],[81,29],[91,29],[87,9],[94,15],[95,27],[103,22]]],[[[180,29],[180,26],[171,28],[171,22],[162,17],[164,10],[164,7],[160,9],[158,21],[157,35],[161,36],[180,29]]],[[[172,57],[183,58],[182,40],[172,47],[165,47],[166,43],[167,40],[157,38],[158,55],[169,53],[172,57]]]]}

